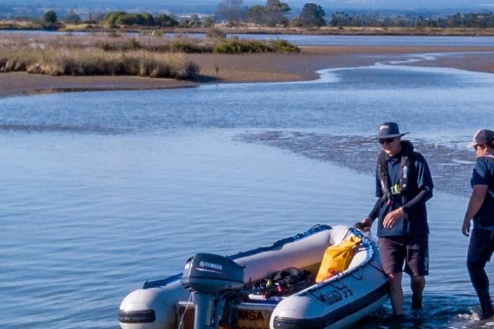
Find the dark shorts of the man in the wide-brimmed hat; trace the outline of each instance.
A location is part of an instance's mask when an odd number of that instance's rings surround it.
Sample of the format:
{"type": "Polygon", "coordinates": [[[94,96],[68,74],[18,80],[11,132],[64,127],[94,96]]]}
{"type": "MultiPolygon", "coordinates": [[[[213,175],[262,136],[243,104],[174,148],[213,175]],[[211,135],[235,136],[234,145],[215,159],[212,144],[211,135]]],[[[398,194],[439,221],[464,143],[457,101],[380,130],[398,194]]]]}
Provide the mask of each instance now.
{"type": "Polygon", "coordinates": [[[382,236],[379,255],[386,274],[429,275],[429,236],[382,236]],[[403,269],[405,264],[405,269],[403,269]]]}

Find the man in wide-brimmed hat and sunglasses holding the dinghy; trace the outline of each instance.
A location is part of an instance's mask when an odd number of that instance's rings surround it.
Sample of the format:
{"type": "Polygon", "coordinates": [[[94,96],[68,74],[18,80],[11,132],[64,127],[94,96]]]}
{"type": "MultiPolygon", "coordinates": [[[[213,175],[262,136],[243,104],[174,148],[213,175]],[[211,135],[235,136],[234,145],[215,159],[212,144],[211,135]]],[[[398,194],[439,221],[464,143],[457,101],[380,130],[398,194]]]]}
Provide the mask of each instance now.
{"type": "Polygon", "coordinates": [[[376,138],[383,147],[376,166],[376,204],[360,223],[370,230],[378,218],[379,254],[390,283],[390,299],[395,316],[403,315],[401,288],[403,271],[410,275],[412,309],[422,308],[425,275],[429,274],[429,225],[425,202],[432,198],[433,182],[429,165],[414,152],[409,141],[401,141],[395,122],[379,127],[376,138]],[[405,265],[405,268],[404,268],[405,265]]]}

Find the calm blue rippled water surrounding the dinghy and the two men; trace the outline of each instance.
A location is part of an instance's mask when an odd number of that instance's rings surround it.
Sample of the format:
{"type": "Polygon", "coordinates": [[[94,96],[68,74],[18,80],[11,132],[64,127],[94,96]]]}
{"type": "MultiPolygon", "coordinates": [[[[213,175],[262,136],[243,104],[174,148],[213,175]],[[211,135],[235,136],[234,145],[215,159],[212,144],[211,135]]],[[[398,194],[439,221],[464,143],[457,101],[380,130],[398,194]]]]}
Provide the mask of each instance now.
{"type": "Polygon", "coordinates": [[[321,73],[0,99],[0,328],[115,329],[122,298],[196,252],[355,223],[374,204],[364,164],[385,120],[411,131],[433,168],[431,275],[423,314],[407,303],[396,324],[386,305],[359,327],[494,325],[468,319],[477,300],[461,235],[475,161],[464,147],[492,112],[494,74],[385,63],[321,73]]]}

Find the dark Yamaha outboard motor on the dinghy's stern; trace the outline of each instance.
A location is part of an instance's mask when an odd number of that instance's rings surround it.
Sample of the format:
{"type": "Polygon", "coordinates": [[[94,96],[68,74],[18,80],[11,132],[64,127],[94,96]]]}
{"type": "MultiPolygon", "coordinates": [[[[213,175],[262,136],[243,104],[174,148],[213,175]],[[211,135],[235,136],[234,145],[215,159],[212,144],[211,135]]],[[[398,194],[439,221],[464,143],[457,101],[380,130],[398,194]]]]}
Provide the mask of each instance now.
{"type": "Polygon", "coordinates": [[[232,259],[199,253],[187,259],[182,285],[193,294],[194,329],[218,328],[221,295],[244,287],[244,268],[232,259]]]}

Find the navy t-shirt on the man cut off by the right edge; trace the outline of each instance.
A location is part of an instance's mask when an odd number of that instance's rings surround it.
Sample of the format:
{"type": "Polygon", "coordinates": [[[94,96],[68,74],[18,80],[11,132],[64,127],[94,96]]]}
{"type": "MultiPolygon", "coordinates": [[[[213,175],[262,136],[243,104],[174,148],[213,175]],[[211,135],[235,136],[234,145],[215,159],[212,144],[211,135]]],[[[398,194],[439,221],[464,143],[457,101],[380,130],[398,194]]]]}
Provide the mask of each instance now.
{"type": "MultiPolygon", "coordinates": [[[[494,157],[494,152],[488,155],[494,157]]],[[[488,189],[486,198],[477,214],[474,216],[474,225],[481,225],[483,227],[494,226],[494,159],[488,159],[488,157],[479,157],[473,168],[472,179],[470,184],[475,185],[487,185],[488,189]]]]}

